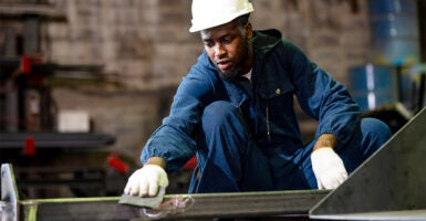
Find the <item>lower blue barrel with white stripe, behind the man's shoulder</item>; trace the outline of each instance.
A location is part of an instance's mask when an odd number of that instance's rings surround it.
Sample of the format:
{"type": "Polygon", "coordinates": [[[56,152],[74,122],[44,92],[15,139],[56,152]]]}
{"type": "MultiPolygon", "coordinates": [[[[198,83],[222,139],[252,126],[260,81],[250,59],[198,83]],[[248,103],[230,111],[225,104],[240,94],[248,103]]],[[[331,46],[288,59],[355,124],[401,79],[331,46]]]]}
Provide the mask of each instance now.
{"type": "Polygon", "coordinates": [[[396,103],[397,78],[391,66],[366,64],[349,70],[349,90],[362,110],[396,103]]]}

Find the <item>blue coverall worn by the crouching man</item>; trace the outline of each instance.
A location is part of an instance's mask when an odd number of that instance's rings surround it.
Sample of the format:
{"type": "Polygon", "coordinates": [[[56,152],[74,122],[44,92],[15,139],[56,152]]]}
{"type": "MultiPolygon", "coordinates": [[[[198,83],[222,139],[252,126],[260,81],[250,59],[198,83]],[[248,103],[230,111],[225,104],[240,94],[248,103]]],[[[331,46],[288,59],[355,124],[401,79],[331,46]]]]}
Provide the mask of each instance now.
{"type": "Polygon", "coordinates": [[[346,87],[311,62],[277,30],[254,31],[251,83],[224,80],[206,52],[178,86],[169,116],[141,160],[162,157],[167,171],[197,155],[189,192],[315,189],[311,158],[293,108],[319,120],[315,137],[336,136],[334,148],[352,172],[391,137],[388,127],[361,119],[346,87]]]}

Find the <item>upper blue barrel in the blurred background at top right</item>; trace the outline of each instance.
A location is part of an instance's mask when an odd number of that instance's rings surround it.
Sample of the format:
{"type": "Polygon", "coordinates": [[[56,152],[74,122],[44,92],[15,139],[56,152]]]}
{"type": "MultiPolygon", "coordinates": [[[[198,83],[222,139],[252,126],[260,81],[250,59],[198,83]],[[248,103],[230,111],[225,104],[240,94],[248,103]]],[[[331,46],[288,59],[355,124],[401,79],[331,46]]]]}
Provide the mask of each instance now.
{"type": "Polygon", "coordinates": [[[416,0],[370,0],[372,61],[383,65],[411,65],[419,61],[416,0]]]}

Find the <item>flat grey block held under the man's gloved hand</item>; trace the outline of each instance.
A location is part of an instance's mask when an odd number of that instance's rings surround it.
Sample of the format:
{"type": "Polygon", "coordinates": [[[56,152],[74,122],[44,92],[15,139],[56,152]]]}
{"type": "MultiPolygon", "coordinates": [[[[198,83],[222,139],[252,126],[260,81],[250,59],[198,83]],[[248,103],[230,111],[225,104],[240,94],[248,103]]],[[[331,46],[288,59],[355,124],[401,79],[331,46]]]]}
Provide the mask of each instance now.
{"type": "Polygon", "coordinates": [[[138,196],[122,194],[118,203],[156,209],[156,208],[159,208],[159,204],[162,204],[163,197],[165,193],[166,193],[166,188],[160,187],[157,196],[155,197],[138,197],[138,196]]]}

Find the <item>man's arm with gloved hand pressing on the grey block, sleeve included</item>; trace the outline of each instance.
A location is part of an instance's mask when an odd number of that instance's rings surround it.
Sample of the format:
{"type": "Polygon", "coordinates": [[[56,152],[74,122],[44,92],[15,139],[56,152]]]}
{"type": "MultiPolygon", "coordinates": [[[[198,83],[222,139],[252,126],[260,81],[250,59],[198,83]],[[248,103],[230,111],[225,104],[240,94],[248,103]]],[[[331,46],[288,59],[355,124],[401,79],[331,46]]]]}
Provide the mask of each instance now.
{"type": "Polygon", "coordinates": [[[139,197],[155,196],[159,187],[168,186],[166,170],[179,169],[196,151],[195,130],[202,108],[214,95],[214,83],[202,69],[191,72],[180,83],[170,108],[143,148],[143,168],[128,179],[124,192],[139,197]]]}

